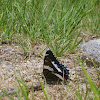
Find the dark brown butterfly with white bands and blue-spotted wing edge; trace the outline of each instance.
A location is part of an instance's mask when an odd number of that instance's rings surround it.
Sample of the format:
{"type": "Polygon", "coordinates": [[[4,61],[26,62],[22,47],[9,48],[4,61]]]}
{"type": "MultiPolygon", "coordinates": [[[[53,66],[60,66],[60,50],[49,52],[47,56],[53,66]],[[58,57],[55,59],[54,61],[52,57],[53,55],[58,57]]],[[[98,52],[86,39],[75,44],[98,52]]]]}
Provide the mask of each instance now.
{"type": "Polygon", "coordinates": [[[51,50],[48,50],[44,57],[43,75],[48,81],[67,80],[69,70],[59,63],[51,50]]]}

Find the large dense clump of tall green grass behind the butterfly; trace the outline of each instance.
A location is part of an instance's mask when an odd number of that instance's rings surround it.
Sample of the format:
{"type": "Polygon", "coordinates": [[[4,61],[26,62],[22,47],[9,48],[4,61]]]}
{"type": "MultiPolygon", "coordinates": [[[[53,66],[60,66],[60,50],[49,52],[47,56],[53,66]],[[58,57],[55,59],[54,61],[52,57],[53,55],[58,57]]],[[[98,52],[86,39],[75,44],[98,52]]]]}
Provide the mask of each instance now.
{"type": "Polygon", "coordinates": [[[25,52],[39,38],[62,56],[81,42],[80,22],[95,3],[96,0],[1,0],[0,42],[17,41],[25,52]]]}

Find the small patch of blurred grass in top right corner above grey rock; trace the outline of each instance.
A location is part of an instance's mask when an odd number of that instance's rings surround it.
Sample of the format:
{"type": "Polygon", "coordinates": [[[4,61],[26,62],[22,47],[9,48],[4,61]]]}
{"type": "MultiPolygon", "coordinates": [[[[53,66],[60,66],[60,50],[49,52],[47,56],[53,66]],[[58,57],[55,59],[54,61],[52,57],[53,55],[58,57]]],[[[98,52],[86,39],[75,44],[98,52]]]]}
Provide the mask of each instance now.
{"type": "Polygon", "coordinates": [[[100,35],[100,1],[97,0],[89,14],[83,19],[83,31],[90,35],[100,35]]]}

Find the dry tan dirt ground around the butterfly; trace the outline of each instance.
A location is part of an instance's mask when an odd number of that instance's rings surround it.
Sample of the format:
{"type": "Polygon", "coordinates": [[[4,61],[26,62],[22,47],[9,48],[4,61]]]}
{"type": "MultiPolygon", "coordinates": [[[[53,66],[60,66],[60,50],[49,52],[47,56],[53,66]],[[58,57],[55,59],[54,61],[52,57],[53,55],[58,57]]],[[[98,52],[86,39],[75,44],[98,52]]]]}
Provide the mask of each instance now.
{"type": "MultiPolygon", "coordinates": [[[[17,86],[15,77],[17,76],[19,78],[19,72],[26,81],[27,86],[39,86],[39,77],[45,87],[44,79],[42,78],[44,58],[38,56],[44,46],[45,45],[36,45],[31,51],[30,55],[25,59],[23,51],[17,44],[0,45],[0,92],[16,89],[17,86]],[[38,76],[36,73],[38,73],[38,76]]],[[[43,52],[43,57],[45,52],[46,51],[43,52]]],[[[79,52],[79,55],[83,56],[83,53],[79,52]]],[[[86,83],[88,89],[90,86],[86,80],[86,77],[84,76],[82,68],[77,61],[76,54],[68,54],[65,57],[59,57],[57,59],[70,71],[71,80],[69,80],[69,87],[74,91],[78,88],[80,90],[82,89],[82,94],[85,96],[86,83]]],[[[99,87],[100,82],[98,80],[98,74],[95,68],[85,66],[85,69],[99,87]]],[[[66,84],[47,84],[47,88],[45,87],[45,90],[47,89],[51,100],[77,100],[72,91],[66,87],[66,84]]],[[[42,90],[35,91],[34,96],[35,100],[46,99],[42,90]]],[[[93,93],[90,92],[89,96],[92,98],[93,93]]],[[[31,97],[31,92],[29,97],[31,97]]],[[[14,96],[14,99],[17,100],[18,98],[14,96]]],[[[7,97],[4,97],[2,100],[8,99],[7,97]]]]}

